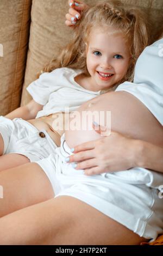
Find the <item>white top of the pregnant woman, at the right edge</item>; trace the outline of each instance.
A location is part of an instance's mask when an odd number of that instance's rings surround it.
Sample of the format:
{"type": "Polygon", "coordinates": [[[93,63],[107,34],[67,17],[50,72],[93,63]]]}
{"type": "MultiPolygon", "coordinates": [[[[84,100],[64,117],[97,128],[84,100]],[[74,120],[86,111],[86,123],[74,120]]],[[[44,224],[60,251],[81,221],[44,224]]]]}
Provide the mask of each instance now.
{"type": "Polygon", "coordinates": [[[163,125],[163,39],[141,53],[135,66],[134,83],[124,82],[115,91],[133,94],[163,125]]]}

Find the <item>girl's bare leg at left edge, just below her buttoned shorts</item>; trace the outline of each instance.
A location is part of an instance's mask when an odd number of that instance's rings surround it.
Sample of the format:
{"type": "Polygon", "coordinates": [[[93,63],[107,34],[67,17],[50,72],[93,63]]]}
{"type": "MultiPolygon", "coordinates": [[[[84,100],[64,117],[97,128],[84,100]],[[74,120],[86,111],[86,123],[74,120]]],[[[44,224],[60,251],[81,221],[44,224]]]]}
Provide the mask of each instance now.
{"type": "Polygon", "coordinates": [[[25,163],[30,163],[30,160],[26,156],[20,154],[3,155],[0,156],[0,171],[21,166],[25,163]]]}

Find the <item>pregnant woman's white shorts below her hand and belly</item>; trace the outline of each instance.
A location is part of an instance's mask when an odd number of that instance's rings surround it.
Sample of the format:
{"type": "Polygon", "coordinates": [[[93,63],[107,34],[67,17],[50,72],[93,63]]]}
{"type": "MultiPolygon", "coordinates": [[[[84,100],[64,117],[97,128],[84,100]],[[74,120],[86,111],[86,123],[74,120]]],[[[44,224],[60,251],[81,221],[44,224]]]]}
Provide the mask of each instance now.
{"type": "Polygon", "coordinates": [[[65,157],[72,153],[64,135],[61,147],[55,153],[37,162],[51,181],[55,197],[67,195],[78,198],[146,239],[155,240],[158,234],[163,233],[163,199],[159,198],[157,188],[147,185],[152,182],[149,170],[144,169],[146,172],[143,172],[143,168],[133,168],[86,176],[83,170],[76,170],[65,162],[65,157]],[[124,180],[123,173],[124,177],[127,173],[130,180],[124,180]]]}

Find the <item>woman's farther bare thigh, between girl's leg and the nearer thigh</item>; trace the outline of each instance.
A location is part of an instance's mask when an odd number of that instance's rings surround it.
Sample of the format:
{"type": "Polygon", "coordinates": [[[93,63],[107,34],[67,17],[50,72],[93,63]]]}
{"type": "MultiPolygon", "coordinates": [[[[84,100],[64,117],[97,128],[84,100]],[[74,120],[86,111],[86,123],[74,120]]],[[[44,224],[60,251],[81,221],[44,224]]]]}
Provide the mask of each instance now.
{"type": "Polygon", "coordinates": [[[36,163],[2,170],[0,185],[3,187],[0,217],[54,197],[49,179],[36,163]]]}

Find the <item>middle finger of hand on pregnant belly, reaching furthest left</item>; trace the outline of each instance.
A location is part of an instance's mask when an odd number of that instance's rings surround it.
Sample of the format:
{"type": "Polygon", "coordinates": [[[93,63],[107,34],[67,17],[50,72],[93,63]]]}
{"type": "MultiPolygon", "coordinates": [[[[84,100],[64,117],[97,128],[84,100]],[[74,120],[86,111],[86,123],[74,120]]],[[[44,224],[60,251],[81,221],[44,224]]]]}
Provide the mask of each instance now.
{"type": "Polygon", "coordinates": [[[87,159],[92,159],[93,157],[95,157],[95,153],[94,153],[93,150],[82,151],[80,153],[71,155],[69,157],[69,159],[70,159],[69,162],[70,163],[71,162],[80,162],[80,161],[84,161],[84,160],[87,160],[87,159]]]}

